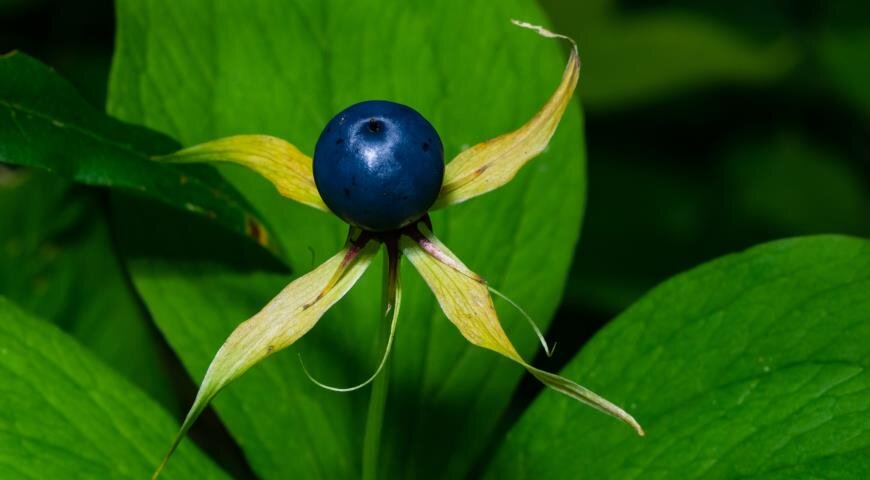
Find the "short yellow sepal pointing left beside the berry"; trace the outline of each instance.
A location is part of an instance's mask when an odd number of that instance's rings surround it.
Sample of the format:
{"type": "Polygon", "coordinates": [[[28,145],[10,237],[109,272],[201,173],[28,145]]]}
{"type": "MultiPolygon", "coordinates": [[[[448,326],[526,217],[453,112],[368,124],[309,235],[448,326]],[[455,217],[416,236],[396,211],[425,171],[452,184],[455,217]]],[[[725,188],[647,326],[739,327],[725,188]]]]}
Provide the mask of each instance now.
{"type": "Polygon", "coordinates": [[[237,163],[272,182],[281,195],[329,211],[314,185],[311,157],[277,137],[235,135],[155,157],[155,160],[169,163],[237,163]]]}

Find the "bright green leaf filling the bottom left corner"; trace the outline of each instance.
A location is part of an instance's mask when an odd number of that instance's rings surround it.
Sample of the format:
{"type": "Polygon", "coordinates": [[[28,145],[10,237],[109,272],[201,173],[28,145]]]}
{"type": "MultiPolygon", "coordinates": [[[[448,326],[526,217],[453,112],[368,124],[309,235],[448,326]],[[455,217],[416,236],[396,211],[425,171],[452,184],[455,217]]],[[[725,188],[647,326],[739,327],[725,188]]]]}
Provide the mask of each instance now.
{"type": "MultiPolygon", "coordinates": [[[[55,326],[0,297],[0,472],[147,478],[177,423],[55,326]]],[[[227,478],[184,445],[166,478],[227,478]]]]}

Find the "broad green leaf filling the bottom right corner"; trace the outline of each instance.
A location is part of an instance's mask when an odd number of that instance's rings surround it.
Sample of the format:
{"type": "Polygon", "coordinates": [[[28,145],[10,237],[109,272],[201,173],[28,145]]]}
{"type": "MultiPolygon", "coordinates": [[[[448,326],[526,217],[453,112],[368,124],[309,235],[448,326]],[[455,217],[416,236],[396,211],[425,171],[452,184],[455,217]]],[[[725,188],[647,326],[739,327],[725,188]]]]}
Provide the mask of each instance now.
{"type": "Polygon", "coordinates": [[[631,407],[646,438],[541,396],[489,477],[863,478],[868,318],[866,240],[782,240],[678,275],[562,372],[631,407]]]}

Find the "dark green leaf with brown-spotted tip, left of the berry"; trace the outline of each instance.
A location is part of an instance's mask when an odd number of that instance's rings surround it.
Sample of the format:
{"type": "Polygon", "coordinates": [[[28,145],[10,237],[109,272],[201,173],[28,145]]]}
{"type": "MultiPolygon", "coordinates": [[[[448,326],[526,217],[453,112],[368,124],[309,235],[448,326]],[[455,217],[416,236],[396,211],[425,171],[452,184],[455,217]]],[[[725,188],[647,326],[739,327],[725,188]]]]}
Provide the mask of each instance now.
{"type": "Polygon", "coordinates": [[[69,83],[27,55],[0,56],[0,162],[137,192],[269,246],[256,214],[211,168],[149,159],[177,148],[164,135],[95,110],[69,83]]]}

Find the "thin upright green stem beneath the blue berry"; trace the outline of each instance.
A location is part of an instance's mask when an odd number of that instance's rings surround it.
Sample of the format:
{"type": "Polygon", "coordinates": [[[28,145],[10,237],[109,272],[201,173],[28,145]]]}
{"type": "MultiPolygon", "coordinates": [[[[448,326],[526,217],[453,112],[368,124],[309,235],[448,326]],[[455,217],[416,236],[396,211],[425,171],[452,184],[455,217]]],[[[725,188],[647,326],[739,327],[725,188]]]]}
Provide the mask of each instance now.
{"type": "MultiPolygon", "coordinates": [[[[383,306],[384,317],[378,328],[378,351],[383,350],[387,343],[390,311],[396,306],[396,288],[399,281],[399,252],[395,241],[385,242],[387,254],[384,265],[383,306]]],[[[362,478],[375,480],[378,478],[378,459],[380,457],[381,431],[384,424],[384,411],[387,405],[387,393],[390,385],[390,359],[384,365],[380,375],[372,383],[372,393],[369,397],[369,411],[366,417],[365,434],[363,437],[362,478]]]]}

